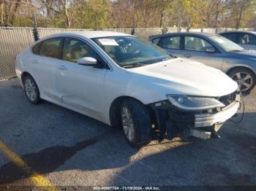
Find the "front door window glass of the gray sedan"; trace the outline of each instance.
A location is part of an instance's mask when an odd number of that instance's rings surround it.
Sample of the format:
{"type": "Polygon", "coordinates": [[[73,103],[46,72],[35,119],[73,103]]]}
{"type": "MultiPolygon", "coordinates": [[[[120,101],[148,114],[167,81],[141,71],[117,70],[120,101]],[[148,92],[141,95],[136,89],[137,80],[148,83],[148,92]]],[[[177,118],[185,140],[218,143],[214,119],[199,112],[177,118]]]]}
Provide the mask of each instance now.
{"type": "Polygon", "coordinates": [[[195,36],[185,36],[185,50],[206,51],[206,47],[213,47],[204,39],[195,36]]]}

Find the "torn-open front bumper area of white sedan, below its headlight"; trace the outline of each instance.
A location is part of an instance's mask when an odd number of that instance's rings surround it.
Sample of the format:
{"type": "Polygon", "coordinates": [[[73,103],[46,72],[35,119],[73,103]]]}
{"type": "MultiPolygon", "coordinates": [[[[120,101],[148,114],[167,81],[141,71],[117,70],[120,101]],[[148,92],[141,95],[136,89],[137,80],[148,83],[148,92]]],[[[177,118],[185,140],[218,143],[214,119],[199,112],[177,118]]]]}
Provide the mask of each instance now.
{"type": "Polygon", "coordinates": [[[170,101],[151,104],[155,123],[159,129],[159,141],[162,141],[165,136],[167,139],[173,139],[185,130],[189,131],[189,136],[200,139],[217,136],[217,131],[222,127],[222,124],[236,115],[241,106],[240,96],[240,93],[236,93],[236,98],[226,104],[225,107],[205,111],[178,109],[170,104],[170,101]]]}

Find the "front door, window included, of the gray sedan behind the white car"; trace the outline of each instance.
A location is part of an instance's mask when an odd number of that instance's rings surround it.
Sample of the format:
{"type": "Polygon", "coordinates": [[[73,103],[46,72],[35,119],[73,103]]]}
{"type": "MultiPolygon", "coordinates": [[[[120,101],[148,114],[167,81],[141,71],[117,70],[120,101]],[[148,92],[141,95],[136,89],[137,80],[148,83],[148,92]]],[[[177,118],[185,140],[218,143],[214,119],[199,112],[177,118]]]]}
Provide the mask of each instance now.
{"type": "Polygon", "coordinates": [[[214,47],[206,39],[198,36],[184,36],[184,49],[181,51],[181,57],[192,59],[217,69],[222,69],[222,52],[214,47]],[[215,52],[206,52],[206,48],[214,48],[215,52]]]}

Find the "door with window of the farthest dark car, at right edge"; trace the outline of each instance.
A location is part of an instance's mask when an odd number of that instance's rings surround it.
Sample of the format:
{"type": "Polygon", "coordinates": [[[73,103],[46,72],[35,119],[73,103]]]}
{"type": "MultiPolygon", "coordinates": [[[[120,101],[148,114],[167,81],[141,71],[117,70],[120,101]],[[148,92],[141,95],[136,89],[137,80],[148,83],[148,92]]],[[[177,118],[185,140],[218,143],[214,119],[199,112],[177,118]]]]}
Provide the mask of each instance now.
{"type": "Polygon", "coordinates": [[[249,50],[256,50],[256,36],[252,34],[241,33],[238,36],[238,44],[249,50]]]}

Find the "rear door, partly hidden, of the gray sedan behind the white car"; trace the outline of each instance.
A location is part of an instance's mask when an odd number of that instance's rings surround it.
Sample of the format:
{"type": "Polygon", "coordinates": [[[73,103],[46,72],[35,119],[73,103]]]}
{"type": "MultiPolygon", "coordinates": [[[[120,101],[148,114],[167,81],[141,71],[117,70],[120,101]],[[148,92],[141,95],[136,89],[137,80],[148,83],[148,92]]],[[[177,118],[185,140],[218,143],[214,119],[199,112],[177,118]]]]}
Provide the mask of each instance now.
{"type": "Polygon", "coordinates": [[[181,36],[162,36],[159,39],[153,39],[153,43],[162,47],[171,55],[181,56],[181,36]]]}

